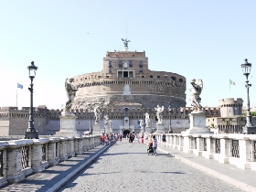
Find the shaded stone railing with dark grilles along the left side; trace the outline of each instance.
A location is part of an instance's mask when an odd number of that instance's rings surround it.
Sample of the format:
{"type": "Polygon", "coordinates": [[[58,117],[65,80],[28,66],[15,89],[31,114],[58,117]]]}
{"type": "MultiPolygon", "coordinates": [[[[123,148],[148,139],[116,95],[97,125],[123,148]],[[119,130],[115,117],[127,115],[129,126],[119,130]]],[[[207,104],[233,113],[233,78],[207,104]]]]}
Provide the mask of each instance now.
{"type": "Polygon", "coordinates": [[[101,135],[48,137],[0,142],[0,187],[58,165],[101,144],[101,135]]]}

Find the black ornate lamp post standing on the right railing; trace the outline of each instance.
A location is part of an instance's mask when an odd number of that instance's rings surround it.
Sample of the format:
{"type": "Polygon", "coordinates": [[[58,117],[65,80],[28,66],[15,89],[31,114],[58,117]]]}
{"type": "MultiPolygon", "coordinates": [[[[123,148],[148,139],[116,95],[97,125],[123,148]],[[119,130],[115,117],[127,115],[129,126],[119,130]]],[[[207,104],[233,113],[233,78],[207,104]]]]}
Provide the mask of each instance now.
{"type": "Polygon", "coordinates": [[[246,115],[246,124],[242,129],[242,133],[256,133],[256,127],[253,126],[251,121],[251,112],[250,112],[250,99],[249,99],[249,88],[251,84],[249,84],[248,76],[251,72],[251,63],[248,62],[248,59],[244,59],[244,63],[240,65],[243,74],[246,77],[246,89],[247,89],[247,115],[246,115]]]}

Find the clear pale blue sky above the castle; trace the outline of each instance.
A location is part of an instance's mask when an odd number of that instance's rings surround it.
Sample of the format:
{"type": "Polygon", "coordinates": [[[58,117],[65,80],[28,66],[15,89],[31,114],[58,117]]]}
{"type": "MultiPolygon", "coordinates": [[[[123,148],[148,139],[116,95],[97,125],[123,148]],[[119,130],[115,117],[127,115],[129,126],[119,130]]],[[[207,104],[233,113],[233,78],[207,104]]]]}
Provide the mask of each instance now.
{"type": "Polygon", "coordinates": [[[93,0],[0,2],[0,106],[29,107],[27,66],[38,67],[34,106],[59,109],[68,77],[101,71],[108,50],[145,51],[149,69],[202,79],[203,106],[219,99],[247,103],[240,64],[252,64],[251,107],[256,106],[256,1],[93,0]],[[127,22],[126,22],[127,21],[127,22]],[[236,85],[230,86],[229,79],[236,85]],[[16,89],[17,81],[24,89],[16,89]]]}

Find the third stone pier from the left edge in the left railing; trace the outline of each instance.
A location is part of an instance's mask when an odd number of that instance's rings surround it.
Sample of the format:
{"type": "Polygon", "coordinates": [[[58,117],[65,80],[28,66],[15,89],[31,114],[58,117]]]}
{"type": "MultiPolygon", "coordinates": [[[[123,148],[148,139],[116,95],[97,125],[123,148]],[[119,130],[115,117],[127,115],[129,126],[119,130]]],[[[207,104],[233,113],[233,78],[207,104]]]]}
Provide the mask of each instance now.
{"type": "Polygon", "coordinates": [[[59,152],[56,150],[56,144],[59,142],[59,137],[50,137],[48,141],[48,165],[59,164],[59,152]]]}

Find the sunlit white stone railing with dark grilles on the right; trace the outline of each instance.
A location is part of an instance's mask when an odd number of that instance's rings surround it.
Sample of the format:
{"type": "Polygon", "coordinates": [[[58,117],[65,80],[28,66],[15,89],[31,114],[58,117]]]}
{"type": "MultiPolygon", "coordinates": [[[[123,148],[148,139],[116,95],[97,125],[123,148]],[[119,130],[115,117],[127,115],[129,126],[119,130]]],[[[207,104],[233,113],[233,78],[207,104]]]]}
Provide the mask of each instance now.
{"type": "MultiPolygon", "coordinates": [[[[163,144],[162,134],[155,134],[163,144]]],[[[243,169],[256,170],[255,134],[166,134],[166,146],[188,154],[216,159],[243,169]]]]}

